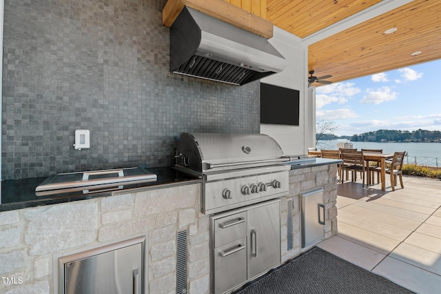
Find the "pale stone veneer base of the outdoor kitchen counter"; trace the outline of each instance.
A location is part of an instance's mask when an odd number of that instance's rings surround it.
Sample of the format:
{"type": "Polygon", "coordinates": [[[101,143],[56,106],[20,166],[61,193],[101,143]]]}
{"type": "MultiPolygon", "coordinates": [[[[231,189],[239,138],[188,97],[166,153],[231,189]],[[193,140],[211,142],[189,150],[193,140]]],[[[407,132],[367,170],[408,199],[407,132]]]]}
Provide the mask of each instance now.
{"type": "MultiPolygon", "coordinates": [[[[337,164],[289,171],[281,197],[282,263],[300,254],[300,193],[325,190],[324,238],[337,233],[337,164]],[[287,251],[287,200],[293,199],[293,248],[287,251]]],[[[176,291],[176,232],[187,230],[189,293],[209,293],[209,215],[199,211],[201,184],[0,213],[0,292],[57,293],[54,261],[139,235],[147,236],[148,291],[176,291]],[[8,280],[6,280],[8,277],[8,280]],[[17,283],[15,283],[17,282],[17,283]],[[56,285],[55,285],[56,286],[56,285]]]]}

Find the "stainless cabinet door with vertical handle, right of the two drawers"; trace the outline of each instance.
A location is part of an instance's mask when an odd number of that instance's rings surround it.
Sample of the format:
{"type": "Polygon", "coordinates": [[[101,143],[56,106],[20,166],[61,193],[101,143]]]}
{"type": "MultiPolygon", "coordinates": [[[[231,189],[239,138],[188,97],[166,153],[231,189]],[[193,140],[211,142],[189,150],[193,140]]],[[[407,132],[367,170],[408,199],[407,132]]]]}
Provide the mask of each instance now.
{"type": "Polygon", "coordinates": [[[248,279],[280,264],[280,200],[247,211],[248,279]]]}

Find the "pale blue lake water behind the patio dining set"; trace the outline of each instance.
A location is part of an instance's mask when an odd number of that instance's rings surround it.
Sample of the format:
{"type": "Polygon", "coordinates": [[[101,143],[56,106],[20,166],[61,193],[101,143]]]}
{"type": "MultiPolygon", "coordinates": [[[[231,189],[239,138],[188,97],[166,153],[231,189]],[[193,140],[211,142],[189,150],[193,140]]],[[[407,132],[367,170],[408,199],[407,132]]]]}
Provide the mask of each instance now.
{"type": "MultiPolygon", "coordinates": [[[[319,140],[318,149],[337,149],[337,143],[347,143],[346,139],[319,140]]],[[[404,163],[420,164],[427,166],[441,166],[441,143],[389,143],[389,142],[355,142],[350,141],[353,148],[357,149],[382,149],[383,153],[407,151],[404,163]],[[439,162],[438,162],[439,161],[439,162]]]]}

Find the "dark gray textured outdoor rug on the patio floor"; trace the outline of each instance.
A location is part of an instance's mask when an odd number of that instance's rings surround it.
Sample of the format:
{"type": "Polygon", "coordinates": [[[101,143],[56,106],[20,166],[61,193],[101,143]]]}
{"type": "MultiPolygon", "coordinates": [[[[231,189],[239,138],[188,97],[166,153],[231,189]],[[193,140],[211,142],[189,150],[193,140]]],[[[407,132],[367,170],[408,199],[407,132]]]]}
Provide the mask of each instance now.
{"type": "Polygon", "coordinates": [[[318,247],[274,269],[237,294],[413,293],[318,247]]]}

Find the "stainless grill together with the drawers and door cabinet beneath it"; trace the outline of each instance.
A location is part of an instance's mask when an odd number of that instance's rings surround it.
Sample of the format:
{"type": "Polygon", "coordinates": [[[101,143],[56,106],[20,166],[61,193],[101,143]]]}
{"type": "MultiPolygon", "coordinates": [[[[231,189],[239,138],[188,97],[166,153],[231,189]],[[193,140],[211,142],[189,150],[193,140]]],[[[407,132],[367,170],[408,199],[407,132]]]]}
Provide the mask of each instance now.
{"type": "Polygon", "coordinates": [[[290,158],[277,142],[262,134],[182,133],[177,159],[176,168],[202,177],[201,210],[214,213],[211,293],[229,293],[280,264],[277,198],[288,193],[290,158]]]}

